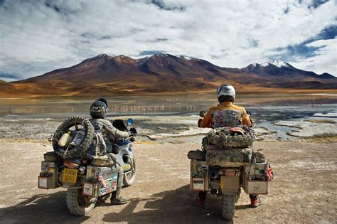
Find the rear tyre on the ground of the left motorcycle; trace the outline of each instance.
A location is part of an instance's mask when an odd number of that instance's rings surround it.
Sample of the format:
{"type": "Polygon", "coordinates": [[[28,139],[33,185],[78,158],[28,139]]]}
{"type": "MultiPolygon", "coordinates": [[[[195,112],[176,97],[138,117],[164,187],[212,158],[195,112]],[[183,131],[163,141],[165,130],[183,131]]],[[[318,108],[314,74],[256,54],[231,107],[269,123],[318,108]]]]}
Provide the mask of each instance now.
{"type": "Polygon", "coordinates": [[[84,216],[94,209],[97,200],[90,201],[90,196],[82,195],[82,188],[68,188],[67,206],[71,214],[84,216]]]}

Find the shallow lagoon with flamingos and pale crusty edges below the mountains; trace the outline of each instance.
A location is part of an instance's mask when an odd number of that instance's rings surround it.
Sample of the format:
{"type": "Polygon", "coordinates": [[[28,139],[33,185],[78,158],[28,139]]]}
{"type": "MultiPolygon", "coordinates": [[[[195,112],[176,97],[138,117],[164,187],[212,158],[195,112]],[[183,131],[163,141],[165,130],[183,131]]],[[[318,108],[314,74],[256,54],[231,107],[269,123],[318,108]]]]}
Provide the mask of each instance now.
{"type": "MultiPolygon", "coordinates": [[[[133,117],[135,126],[142,136],[178,137],[199,134],[196,127],[198,112],[217,105],[215,95],[139,95],[106,97],[109,101],[108,119],[133,117]]],[[[43,97],[28,99],[0,99],[0,123],[11,125],[14,122],[46,123],[55,120],[59,124],[68,117],[88,117],[88,110],[96,97],[43,97]],[[42,121],[42,122],[41,122],[42,121]]],[[[294,139],[289,132],[296,127],[275,125],[278,121],[301,122],[304,119],[333,119],[337,116],[337,95],[313,94],[260,94],[238,95],[237,105],[246,107],[252,114],[255,127],[265,132],[268,139],[294,139]]],[[[323,124],[322,124],[323,125],[323,124]]],[[[2,125],[1,125],[2,126],[2,125]]],[[[43,126],[43,124],[41,124],[43,126]]],[[[38,125],[36,126],[38,127],[38,125]]],[[[323,126],[322,126],[323,127],[323,126]]],[[[53,132],[55,127],[43,128],[53,132]]],[[[1,127],[2,133],[10,132],[1,127]]],[[[38,130],[34,130],[38,133],[38,130]]],[[[4,135],[3,137],[8,137],[4,135]]]]}

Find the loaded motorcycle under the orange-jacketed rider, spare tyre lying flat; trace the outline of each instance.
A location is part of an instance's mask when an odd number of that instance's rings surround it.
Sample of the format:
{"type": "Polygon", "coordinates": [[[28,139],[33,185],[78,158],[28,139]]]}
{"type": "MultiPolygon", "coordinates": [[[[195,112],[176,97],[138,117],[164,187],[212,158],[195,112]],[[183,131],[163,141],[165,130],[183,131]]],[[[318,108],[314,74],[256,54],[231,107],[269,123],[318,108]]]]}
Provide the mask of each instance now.
{"type": "MultiPolygon", "coordinates": [[[[200,112],[204,117],[205,112],[200,112]]],[[[272,167],[264,154],[253,151],[255,132],[245,125],[212,129],[202,151],[190,151],[190,188],[222,197],[222,216],[230,220],[241,188],[248,194],[267,194],[272,167]]]]}

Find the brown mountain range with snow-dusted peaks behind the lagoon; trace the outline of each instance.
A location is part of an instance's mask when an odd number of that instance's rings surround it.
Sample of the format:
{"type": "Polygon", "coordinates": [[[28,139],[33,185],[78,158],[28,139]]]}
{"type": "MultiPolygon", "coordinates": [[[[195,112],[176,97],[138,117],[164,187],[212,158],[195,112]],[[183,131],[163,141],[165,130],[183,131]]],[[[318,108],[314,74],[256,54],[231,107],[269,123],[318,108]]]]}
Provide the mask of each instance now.
{"type": "Polygon", "coordinates": [[[300,70],[282,60],[221,68],[206,60],[169,54],[139,59],[101,54],[26,80],[1,81],[0,96],[190,92],[215,90],[221,83],[231,83],[239,90],[337,89],[333,75],[300,70]]]}

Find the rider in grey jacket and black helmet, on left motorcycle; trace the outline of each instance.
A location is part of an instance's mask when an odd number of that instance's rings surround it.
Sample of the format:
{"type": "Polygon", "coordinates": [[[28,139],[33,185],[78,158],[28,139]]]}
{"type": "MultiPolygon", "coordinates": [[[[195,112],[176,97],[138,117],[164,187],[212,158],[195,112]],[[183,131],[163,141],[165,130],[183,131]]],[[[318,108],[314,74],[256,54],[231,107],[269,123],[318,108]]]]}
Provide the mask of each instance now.
{"type": "MultiPolygon", "coordinates": [[[[117,139],[127,138],[130,136],[130,133],[119,131],[118,129],[112,126],[112,123],[109,122],[109,120],[105,119],[105,116],[107,115],[107,107],[108,104],[105,98],[100,98],[95,100],[95,102],[92,102],[92,105],[90,106],[90,115],[92,119],[90,119],[90,122],[97,131],[100,131],[102,133],[104,138],[104,144],[106,144],[107,149],[110,149],[110,146],[112,147],[111,141],[114,142],[117,139]]],[[[101,151],[100,153],[106,154],[107,151],[101,151]]],[[[122,167],[119,166],[119,164],[117,164],[117,167],[119,168],[117,191],[114,191],[112,193],[110,201],[112,204],[122,205],[124,203],[127,203],[127,200],[120,196],[124,172],[122,167]]]]}

